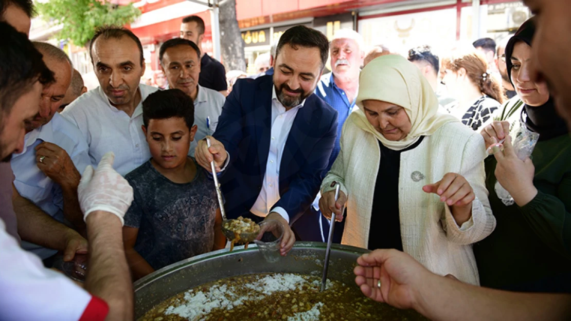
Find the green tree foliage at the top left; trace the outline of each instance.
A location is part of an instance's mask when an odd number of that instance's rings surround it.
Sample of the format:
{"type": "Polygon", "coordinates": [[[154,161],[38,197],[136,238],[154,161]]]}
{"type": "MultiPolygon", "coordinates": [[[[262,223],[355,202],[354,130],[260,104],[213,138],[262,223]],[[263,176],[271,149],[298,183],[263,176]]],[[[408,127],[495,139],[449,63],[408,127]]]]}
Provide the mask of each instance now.
{"type": "Polygon", "coordinates": [[[132,4],[118,6],[98,0],[50,0],[35,4],[43,19],[54,25],[63,25],[59,39],[70,39],[80,47],[89,42],[98,27],[123,26],[141,14],[132,4]]]}

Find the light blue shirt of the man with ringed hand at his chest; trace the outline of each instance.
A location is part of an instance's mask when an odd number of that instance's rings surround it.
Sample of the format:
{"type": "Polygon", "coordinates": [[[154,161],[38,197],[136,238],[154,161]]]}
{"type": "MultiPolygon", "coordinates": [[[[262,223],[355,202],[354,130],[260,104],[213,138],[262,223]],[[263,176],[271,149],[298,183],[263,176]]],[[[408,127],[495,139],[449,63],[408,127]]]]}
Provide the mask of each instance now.
{"type": "MultiPolygon", "coordinates": [[[[22,153],[12,155],[10,165],[14,171],[14,186],[18,193],[55,220],[64,222],[62,188],[47,177],[36,162],[35,147],[44,141],[58,145],[66,151],[79,173],[83,173],[91,163],[89,148],[79,129],[59,113],[55,113],[49,123],[26,134],[22,153]]],[[[28,242],[22,242],[22,247],[42,259],[57,252],[28,242]]]]}

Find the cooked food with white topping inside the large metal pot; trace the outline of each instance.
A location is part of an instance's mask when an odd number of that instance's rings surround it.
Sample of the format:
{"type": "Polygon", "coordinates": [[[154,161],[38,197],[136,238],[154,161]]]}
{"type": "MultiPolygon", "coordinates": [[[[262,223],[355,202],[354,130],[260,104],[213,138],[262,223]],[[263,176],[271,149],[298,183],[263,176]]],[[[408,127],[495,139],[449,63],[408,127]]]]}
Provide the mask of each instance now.
{"type": "Polygon", "coordinates": [[[204,284],[158,304],[139,321],[426,320],[363,296],[354,284],[291,273],[252,274],[204,284]]]}

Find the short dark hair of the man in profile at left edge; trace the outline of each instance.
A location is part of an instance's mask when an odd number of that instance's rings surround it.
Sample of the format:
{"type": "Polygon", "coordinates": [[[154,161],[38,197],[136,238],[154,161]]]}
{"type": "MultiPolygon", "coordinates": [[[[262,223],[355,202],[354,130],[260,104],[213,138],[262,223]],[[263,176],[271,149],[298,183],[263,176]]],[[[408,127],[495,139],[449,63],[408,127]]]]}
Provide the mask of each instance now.
{"type": "Polygon", "coordinates": [[[43,85],[55,81],[26,34],[0,22],[0,116],[10,113],[14,103],[39,80],[43,85]]]}

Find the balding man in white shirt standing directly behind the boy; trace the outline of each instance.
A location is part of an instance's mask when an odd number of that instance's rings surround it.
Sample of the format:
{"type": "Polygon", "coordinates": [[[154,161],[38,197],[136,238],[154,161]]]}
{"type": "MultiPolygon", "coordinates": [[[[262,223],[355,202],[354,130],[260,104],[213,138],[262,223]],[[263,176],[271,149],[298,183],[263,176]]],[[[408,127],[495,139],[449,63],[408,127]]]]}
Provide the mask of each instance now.
{"type": "Polygon", "coordinates": [[[109,151],[123,176],[151,158],[141,126],[142,101],[158,88],[140,84],[143,47],[130,30],[105,27],[90,42],[99,87],[86,92],[61,113],[83,133],[91,164],[109,151]]]}

